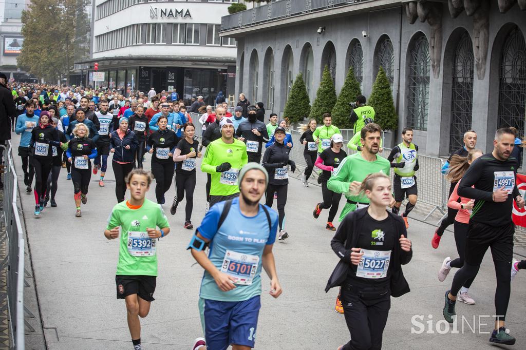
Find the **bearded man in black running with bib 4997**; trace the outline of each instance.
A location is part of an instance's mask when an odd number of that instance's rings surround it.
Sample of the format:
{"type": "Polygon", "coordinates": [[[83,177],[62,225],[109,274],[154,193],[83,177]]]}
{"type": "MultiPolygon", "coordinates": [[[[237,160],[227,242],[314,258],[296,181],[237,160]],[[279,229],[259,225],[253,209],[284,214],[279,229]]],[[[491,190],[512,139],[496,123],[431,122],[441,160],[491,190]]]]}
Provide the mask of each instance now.
{"type": "Polygon", "coordinates": [[[467,280],[477,274],[485,252],[491,248],[497,275],[495,290],[497,318],[490,342],[505,345],[515,344],[515,338],[506,332],[504,326],[510,300],[514,233],[511,220],[513,200],[517,202],[519,208],[524,207],[524,199],[515,186],[517,169],[514,165],[517,160],[510,157],[514,139],[513,131],[509,128],[497,130],[493,140],[493,152],[474,161],[460,180],[458,194],[461,197],[474,199],[475,203],[469,220],[464,266],[453,277],[451,290],[446,292],[446,304],[443,310],[446,321],[453,323],[457,293],[467,280]]]}

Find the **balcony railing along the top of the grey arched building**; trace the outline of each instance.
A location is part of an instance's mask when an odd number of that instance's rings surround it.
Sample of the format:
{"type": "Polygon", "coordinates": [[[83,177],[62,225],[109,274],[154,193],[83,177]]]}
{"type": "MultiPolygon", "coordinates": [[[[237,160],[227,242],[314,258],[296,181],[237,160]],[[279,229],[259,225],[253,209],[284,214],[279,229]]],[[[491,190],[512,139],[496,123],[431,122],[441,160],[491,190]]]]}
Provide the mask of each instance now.
{"type": "Polygon", "coordinates": [[[371,0],[280,0],[221,17],[221,32],[365,1],[371,0]]]}

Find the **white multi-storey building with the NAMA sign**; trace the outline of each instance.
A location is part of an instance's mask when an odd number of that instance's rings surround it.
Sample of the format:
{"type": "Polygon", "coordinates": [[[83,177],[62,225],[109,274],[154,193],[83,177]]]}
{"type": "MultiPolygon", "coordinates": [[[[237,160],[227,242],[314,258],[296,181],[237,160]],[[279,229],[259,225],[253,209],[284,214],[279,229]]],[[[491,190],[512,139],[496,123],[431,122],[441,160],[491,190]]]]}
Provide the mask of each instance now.
{"type": "MultiPolygon", "coordinates": [[[[95,0],[92,58],[98,86],[157,92],[189,100],[233,94],[236,40],[220,38],[226,1],[95,0]]],[[[93,83],[92,83],[93,84],[93,83]]]]}

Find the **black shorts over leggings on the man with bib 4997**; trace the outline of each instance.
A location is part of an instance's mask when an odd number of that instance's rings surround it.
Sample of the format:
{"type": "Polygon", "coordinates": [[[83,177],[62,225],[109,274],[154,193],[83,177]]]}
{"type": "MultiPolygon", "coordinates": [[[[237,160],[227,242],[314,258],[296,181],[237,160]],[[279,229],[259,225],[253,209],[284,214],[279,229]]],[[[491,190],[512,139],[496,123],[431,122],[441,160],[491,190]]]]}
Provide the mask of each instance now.
{"type": "Polygon", "coordinates": [[[482,262],[485,252],[491,248],[493,261],[510,262],[513,258],[513,223],[499,227],[480,222],[469,223],[466,236],[466,259],[470,265],[482,262]]]}

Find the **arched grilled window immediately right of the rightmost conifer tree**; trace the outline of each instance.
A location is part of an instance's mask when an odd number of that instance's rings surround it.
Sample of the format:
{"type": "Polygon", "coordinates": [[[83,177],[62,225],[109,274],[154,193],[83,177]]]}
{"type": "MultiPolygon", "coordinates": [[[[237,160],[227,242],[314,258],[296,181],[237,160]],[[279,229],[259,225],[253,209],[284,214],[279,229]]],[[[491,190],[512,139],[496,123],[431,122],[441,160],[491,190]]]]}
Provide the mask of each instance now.
{"type": "Polygon", "coordinates": [[[427,131],[429,110],[429,43],[420,33],[409,53],[407,125],[413,129],[427,131]]]}

